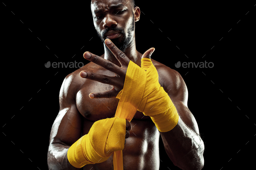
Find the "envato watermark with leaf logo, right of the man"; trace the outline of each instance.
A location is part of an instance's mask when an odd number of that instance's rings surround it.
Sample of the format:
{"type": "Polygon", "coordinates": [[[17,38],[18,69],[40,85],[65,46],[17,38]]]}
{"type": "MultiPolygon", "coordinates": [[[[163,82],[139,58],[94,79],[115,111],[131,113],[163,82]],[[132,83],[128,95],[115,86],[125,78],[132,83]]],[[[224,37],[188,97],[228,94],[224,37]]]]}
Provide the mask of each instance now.
{"type": "Polygon", "coordinates": [[[175,63],[175,67],[176,68],[180,68],[180,67],[183,67],[183,68],[212,68],[214,66],[213,62],[183,62],[181,63],[181,61],[178,61],[177,63],[175,63]]]}

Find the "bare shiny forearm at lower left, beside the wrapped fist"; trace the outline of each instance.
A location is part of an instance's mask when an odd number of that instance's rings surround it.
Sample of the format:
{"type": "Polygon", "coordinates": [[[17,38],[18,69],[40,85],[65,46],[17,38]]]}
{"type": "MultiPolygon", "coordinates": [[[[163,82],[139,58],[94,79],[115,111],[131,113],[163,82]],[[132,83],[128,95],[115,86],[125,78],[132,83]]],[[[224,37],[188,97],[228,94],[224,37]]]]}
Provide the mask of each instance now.
{"type": "Polygon", "coordinates": [[[47,162],[49,170],[79,170],[80,168],[73,167],[68,160],[67,152],[69,146],[63,144],[50,144],[47,162]]]}

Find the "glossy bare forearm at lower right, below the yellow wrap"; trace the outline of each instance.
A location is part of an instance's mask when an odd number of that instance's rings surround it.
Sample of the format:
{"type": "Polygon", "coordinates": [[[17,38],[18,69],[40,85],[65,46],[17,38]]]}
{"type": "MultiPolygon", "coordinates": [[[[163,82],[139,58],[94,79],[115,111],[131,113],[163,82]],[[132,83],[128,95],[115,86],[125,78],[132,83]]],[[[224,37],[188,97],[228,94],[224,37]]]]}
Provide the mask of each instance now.
{"type": "Polygon", "coordinates": [[[174,165],[182,170],[203,168],[204,144],[200,136],[179,119],[177,125],[168,132],[160,132],[164,148],[174,165]]]}

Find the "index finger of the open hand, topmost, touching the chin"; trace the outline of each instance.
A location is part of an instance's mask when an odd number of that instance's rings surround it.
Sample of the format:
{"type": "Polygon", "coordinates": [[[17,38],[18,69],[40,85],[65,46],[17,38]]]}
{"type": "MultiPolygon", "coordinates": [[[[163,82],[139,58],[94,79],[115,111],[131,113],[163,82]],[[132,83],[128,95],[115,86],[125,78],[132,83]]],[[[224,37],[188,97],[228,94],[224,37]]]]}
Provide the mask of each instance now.
{"type": "Polygon", "coordinates": [[[115,58],[119,61],[122,67],[128,67],[130,59],[125,55],[124,52],[119,50],[110,39],[105,39],[105,45],[115,55],[115,58]]]}

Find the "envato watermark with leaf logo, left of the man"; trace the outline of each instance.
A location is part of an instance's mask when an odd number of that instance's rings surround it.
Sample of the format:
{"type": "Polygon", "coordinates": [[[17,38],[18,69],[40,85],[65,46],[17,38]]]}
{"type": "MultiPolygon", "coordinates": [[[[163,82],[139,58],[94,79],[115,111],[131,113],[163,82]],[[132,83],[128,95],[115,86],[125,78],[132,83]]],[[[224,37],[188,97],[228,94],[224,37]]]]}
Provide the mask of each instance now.
{"type": "Polygon", "coordinates": [[[44,64],[46,68],[53,67],[53,68],[81,68],[84,66],[82,62],[53,62],[51,64],[50,61],[48,61],[46,64],[44,64]]]}

